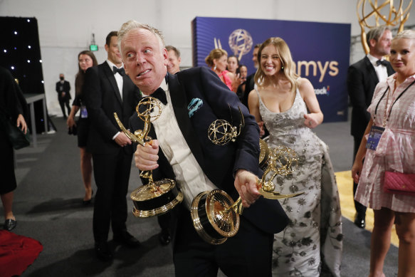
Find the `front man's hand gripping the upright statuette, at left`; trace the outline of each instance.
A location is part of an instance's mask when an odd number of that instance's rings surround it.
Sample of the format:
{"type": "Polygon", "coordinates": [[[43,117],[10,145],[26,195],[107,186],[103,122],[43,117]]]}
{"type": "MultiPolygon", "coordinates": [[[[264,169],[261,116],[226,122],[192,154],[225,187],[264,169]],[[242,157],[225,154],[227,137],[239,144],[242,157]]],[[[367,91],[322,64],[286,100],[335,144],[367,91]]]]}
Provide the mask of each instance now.
{"type": "Polygon", "coordinates": [[[141,171],[153,170],[159,167],[159,141],[152,140],[151,144],[138,145],[134,154],[135,166],[141,171]]]}

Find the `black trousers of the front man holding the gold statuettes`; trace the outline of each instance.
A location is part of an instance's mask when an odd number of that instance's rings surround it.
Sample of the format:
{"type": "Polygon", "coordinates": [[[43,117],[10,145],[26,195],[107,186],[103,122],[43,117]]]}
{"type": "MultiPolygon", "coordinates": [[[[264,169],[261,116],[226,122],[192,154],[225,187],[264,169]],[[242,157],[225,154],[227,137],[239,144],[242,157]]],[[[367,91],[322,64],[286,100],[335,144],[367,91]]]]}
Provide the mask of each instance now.
{"type": "Polygon", "coordinates": [[[236,236],[216,246],[196,233],[187,209],[179,213],[176,231],[173,258],[178,277],[214,277],[219,268],[226,276],[271,276],[273,234],[266,234],[243,216],[236,236]]]}

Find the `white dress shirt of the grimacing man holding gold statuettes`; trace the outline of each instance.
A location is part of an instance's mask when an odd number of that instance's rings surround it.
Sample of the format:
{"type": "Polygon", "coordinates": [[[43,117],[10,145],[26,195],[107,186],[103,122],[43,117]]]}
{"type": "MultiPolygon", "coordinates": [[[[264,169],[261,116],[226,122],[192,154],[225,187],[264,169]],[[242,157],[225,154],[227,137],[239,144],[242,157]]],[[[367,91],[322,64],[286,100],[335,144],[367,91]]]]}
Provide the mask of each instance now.
{"type": "MultiPolygon", "coordinates": [[[[166,92],[167,105],[163,105],[157,100],[162,107],[162,113],[157,120],[152,122],[152,125],[154,126],[157,140],[159,140],[160,148],[162,149],[164,156],[172,165],[177,186],[184,195],[184,203],[186,204],[186,207],[190,209],[191,202],[197,194],[217,189],[217,187],[202,171],[180,131],[177,119],[174,115],[169,88],[164,78],[160,87],[166,92]]],[[[154,115],[154,113],[158,113],[158,111],[154,109],[152,115],[154,115]]]]}

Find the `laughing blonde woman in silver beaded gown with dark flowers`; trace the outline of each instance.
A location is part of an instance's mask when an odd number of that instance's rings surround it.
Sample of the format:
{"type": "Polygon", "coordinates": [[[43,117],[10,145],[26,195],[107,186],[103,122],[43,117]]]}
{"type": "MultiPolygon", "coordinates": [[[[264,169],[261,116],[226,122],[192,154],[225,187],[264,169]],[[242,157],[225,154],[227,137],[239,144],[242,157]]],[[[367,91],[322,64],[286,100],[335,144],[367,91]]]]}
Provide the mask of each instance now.
{"type": "Polygon", "coordinates": [[[274,276],[340,276],[342,219],[328,148],[312,128],[322,113],[309,80],[295,74],[282,38],[268,38],[258,52],[258,86],[248,98],[251,114],[270,135],[268,146],[295,150],[298,167],[274,179],[275,192],[304,192],[280,204],[290,224],[274,235],[274,276]]]}

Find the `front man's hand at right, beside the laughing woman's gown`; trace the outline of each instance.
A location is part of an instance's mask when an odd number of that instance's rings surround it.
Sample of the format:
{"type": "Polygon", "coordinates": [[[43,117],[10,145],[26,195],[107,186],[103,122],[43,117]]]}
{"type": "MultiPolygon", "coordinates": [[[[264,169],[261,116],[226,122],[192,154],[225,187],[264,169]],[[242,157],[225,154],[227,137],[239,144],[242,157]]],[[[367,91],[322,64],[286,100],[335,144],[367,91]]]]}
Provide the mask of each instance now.
{"type": "Polygon", "coordinates": [[[245,208],[250,207],[261,196],[258,192],[257,180],[258,177],[255,174],[244,169],[236,172],[234,184],[245,208]]]}

